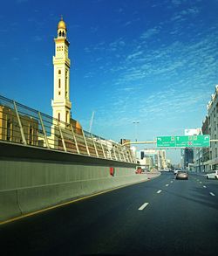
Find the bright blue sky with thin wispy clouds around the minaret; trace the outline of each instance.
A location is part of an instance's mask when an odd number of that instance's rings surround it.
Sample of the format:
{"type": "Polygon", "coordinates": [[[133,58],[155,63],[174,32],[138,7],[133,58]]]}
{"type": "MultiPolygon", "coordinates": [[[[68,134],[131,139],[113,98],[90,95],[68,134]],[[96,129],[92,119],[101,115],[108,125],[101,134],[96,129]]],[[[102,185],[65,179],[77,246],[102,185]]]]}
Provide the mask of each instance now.
{"type": "Polygon", "coordinates": [[[1,1],[0,94],[51,114],[62,14],[72,118],[88,130],[95,111],[92,132],[114,141],[135,140],[133,121],[138,141],[183,135],[218,84],[217,13],[216,0],[1,1]]]}

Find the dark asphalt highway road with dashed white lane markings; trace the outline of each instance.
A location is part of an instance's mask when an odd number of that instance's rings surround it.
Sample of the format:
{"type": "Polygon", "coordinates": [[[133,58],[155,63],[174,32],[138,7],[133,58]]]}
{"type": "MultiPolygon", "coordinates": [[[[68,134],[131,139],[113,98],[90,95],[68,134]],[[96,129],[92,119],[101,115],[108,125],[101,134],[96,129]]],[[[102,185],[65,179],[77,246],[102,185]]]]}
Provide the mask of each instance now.
{"type": "Polygon", "coordinates": [[[1,255],[217,255],[218,181],[162,173],[0,225],[0,241],[1,255]]]}

